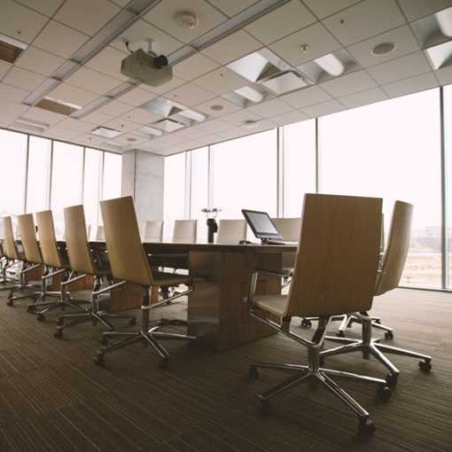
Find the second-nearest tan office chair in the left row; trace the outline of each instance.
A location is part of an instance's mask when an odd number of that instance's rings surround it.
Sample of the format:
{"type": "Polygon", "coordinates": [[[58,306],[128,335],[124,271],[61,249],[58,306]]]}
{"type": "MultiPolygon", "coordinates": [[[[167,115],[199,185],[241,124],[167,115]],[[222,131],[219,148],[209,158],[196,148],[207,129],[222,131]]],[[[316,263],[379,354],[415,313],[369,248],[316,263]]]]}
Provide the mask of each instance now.
{"type": "Polygon", "coordinates": [[[54,334],[55,338],[62,339],[63,331],[66,330],[66,328],[88,321],[91,321],[94,324],[97,322],[101,323],[109,331],[113,331],[114,329],[112,323],[108,322],[109,319],[113,318],[128,319],[129,324],[134,325],[136,323],[135,316],[106,312],[104,309],[100,308],[99,298],[92,295],[92,293],[95,293],[100,289],[103,278],[109,284],[113,284],[113,277],[108,266],[102,268],[100,262],[97,263],[90,252],[83,206],[65,208],[65,230],[66,250],[71,274],[62,284],[72,284],[75,281],[79,281],[90,275],[94,277],[94,285],[91,292],[90,308],[87,308],[86,312],[59,316],[57,331],[55,331],[54,334]],[[69,322],[65,323],[66,320],[69,322]]]}

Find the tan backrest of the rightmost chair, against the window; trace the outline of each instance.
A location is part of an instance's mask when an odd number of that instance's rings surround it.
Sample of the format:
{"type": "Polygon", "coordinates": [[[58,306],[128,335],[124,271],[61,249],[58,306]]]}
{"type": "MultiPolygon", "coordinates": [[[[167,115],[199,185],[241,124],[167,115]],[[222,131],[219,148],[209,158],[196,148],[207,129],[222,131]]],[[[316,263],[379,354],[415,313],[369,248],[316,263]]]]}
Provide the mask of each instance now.
{"type": "Polygon", "coordinates": [[[376,295],[391,291],[399,285],[409,250],[413,209],[411,204],[395,201],[386,252],[377,278],[376,295]]]}

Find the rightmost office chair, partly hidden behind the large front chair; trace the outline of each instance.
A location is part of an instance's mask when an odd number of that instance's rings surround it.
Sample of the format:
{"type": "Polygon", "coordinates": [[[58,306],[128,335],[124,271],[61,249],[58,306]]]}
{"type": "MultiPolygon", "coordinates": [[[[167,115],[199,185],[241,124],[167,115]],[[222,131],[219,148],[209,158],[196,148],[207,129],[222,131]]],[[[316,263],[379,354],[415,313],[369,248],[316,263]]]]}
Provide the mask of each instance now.
{"type": "MultiPolygon", "coordinates": [[[[374,296],[392,291],[399,284],[409,251],[412,215],[413,206],[411,204],[402,201],[395,202],[386,253],[383,257],[381,270],[377,275],[374,296]]],[[[367,311],[367,309],[364,311],[367,311]]],[[[362,309],[350,312],[354,312],[355,316],[362,323],[362,339],[327,337],[327,339],[345,345],[323,351],[320,354],[322,359],[331,355],[341,355],[357,351],[361,351],[362,356],[366,359],[372,355],[389,370],[390,373],[386,376],[386,381],[391,386],[397,384],[397,378],[400,372],[393,362],[384,355],[384,352],[420,359],[419,367],[421,370],[429,371],[432,369],[432,356],[380,344],[380,339],[372,338],[372,327],[374,323],[371,317],[366,312],[363,312],[362,309]]]]}

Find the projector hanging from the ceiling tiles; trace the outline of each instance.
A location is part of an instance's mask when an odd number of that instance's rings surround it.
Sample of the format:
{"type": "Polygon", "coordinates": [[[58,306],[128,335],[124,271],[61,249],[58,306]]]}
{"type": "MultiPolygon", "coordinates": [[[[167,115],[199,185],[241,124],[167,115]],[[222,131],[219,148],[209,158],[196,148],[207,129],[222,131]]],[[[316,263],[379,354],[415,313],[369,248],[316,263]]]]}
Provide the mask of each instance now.
{"type": "Polygon", "coordinates": [[[121,61],[121,74],[146,85],[160,86],[173,78],[173,67],[164,55],[138,49],[121,61]]]}

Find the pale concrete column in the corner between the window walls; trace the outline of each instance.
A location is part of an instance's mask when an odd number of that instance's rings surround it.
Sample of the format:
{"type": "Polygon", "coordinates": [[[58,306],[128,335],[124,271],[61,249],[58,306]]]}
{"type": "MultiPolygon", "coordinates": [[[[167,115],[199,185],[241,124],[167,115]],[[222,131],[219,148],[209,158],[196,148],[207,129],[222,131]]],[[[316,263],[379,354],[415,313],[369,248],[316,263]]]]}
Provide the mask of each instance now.
{"type": "Polygon", "coordinates": [[[165,158],[145,151],[122,155],[122,196],[132,196],[139,222],[163,220],[165,158]]]}

